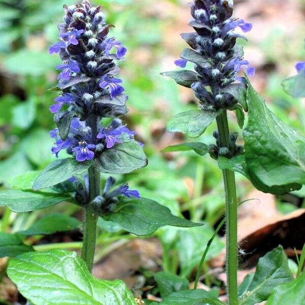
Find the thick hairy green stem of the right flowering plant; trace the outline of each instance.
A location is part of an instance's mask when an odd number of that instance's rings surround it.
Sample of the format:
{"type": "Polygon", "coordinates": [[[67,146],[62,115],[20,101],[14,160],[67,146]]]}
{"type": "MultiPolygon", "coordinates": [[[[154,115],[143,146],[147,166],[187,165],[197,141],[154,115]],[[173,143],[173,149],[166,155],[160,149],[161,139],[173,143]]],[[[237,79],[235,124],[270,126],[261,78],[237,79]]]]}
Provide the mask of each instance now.
{"type": "MultiPolygon", "coordinates": [[[[221,147],[229,147],[230,133],[225,110],[216,118],[221,147]]],[[[229,305],[237,305],[237,198],[234,172],[223,170],[226,193],[227,251],[226,269],[229,305]]]]}

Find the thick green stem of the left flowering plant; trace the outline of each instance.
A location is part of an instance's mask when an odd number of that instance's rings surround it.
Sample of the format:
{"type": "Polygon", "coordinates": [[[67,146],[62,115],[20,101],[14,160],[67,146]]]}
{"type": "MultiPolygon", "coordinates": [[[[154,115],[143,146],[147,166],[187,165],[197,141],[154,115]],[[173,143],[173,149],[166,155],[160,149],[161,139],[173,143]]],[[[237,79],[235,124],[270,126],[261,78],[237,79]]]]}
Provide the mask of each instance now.
{"type": "MultiPolygon", "coordinates": [[[[90,201],[100,195],[100,173],[92,166],[89,168],[89,197],[90,201]]],[[[91,271],[96,247],[98,215],[93,207],[87,204],[84,208],[83,245],[81,258],[91,271]]]]}

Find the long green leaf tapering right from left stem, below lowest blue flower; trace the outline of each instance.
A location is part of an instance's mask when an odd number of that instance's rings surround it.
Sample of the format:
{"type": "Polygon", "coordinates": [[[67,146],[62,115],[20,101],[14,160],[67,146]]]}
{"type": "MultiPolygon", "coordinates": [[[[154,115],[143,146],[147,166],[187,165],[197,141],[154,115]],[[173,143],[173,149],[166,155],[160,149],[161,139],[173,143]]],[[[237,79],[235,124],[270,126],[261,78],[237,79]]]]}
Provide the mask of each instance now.
{"type": "Polygon", "coordinates": [[[202,224],[173,216],[169,208],[147,198],[120,200],[113,212],[102,217],[140,236],[149,235],[164,226],[187,228],[202,226],[202,224]]]}

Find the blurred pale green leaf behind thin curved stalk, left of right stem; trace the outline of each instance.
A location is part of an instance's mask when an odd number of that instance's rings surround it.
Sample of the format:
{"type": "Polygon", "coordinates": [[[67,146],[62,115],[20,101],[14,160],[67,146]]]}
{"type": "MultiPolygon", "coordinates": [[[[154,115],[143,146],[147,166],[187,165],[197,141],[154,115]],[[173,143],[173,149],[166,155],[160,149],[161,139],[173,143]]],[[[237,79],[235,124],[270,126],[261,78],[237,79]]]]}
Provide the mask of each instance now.
{"type": "MultiPolygon", "coordinates": [[[[214,229],[207,224],[203,227],[178,230],[176,250],[180,262],[181,276],[188,276],[194,268],[198,267],[202,253],[213,233],[214,229]]],[[[223,242],[216,236],[207,252],[206,260],[216,257],[223,248],[223,242]]]]}

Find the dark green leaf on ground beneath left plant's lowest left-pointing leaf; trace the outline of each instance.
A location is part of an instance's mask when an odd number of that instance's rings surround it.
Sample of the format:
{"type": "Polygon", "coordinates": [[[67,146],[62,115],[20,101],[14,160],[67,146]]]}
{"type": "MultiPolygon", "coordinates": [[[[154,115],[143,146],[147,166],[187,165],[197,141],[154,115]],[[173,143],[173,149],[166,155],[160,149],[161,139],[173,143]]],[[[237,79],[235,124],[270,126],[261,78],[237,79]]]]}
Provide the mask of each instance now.
{"type": "Polygon", "coordinates": [[[53,234],[76,229],[80,224],[80,221],[74,217],[64,214],[50,214],[36,221],[28,229],[19,231],[18,234],[26,236],[53,234]]]}

